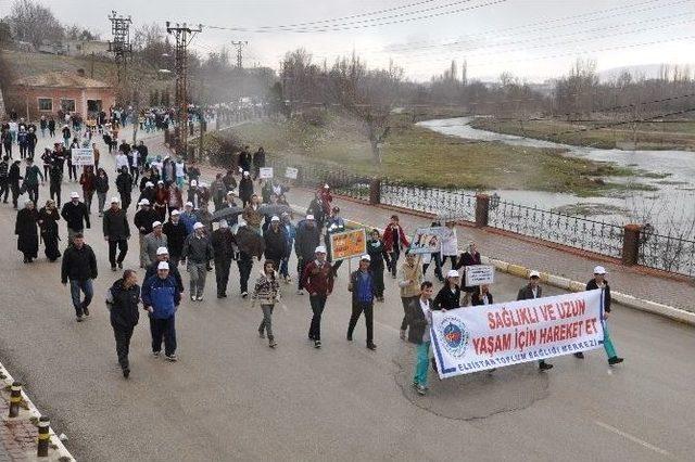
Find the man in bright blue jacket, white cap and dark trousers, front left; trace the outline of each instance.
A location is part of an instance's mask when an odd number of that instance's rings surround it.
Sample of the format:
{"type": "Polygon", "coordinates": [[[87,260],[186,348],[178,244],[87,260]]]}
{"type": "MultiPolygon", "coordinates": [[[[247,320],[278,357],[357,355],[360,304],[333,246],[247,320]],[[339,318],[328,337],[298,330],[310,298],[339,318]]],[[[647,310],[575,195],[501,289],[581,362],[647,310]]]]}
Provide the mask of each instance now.
{"type": "Polygon", "coordinates": [[[181,301],[181,293],[169,274],[166,261],[157,264],[156,275],[142,283],[142,305],[150,313],[152,333],[152,355],[160,356],[162,339],[164,354],[169,361],[176,361],[176,309],[181,301]]]}

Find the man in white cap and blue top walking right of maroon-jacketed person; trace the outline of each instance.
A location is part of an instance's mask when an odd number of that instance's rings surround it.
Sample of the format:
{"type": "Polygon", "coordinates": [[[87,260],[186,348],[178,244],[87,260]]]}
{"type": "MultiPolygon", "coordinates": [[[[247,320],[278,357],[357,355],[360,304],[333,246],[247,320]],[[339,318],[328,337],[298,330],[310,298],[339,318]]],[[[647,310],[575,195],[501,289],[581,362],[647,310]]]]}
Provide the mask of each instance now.
{"type": "Polygon", "coordinates": [[[357,325],[359,316],[365,313],[365,324],[367,326],[367,348],[376,350],[374,343],[374,297],[377,293],[374,284],[374,275],[369,271],[371,257],[363,255],[359,258],[359,268],[350,274],[348,290],[352,292],[352,316],[348,324],[348,341],[352,342],[352,333],[357,325]]]}

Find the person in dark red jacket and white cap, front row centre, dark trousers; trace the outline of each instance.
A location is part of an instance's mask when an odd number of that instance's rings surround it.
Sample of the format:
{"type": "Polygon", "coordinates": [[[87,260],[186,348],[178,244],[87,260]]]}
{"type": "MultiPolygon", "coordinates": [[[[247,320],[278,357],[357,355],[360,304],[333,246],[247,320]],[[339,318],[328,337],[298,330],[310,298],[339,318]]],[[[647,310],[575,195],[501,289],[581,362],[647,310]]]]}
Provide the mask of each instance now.
{"type": "Polygon", "coordinates": [[[326,299],[333,292],[333,268],[326,261],[326,247],[316,247],[316,259],[304,268],[301,287],[309,294],[312,305],[312,324],[308,329],[308,338],[314,341],[314,348],[321,347],[321,313],[326,306],[326,299]]]}

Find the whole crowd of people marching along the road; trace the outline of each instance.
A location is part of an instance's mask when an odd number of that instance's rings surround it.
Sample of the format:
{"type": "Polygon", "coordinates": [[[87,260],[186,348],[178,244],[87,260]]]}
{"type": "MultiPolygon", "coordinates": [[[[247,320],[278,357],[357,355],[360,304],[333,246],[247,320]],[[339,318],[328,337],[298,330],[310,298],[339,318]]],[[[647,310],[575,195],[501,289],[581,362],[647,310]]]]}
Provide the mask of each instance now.
{"type": "MultiPolygon", "coordinates": [[[[33,132],[35,128],[27,126],[26,130],[33,132]]],[[[271,348],[278,345],[273,329],[273,311],[280,303],[282,292],[287,292],[282,287],[289,287],[294,273],[296,294],[308,293],[312,310],[308,339],[315,348],[321,347],[321,316],[342,264],[331,256],[330,236],[345,231],[345,221],[340,208],[333,204],[328,184],[321,184],[316,191],[305,218],[294,222],[286,197],[289,191],[286,184],[274,179],[254,183],[265,166],[263,149],[251,155],[247,146],[239,154],[236,168],[218,174],[208,185],[202,181],[201,171],[194,164],[189,165],[172,156],[151,155],[142,141],[131,146],[123,140],[113,153],[115,169],[105,168],[103,162],[99,167],[99,149],[88,132],[88,129],[78,129],[63,142],[55,142],[52,150],[47,149],[40,157],[43,171],[34,165],[34,149],[27,149],[26,157],[13,161],[11,149],[5,146],[5,155],[0,163],[0,197],[4,195],[3,203],[7,204],[11,191],[13,206],[17,208],[18,197],[24,193],[28,195],[16,215],[17,248],[25,264],[31,264],[38,257],[40,236],[49,261],[62,256],[61,282],[70,284],[76,320],[83,322],[89,317],[92,281],[99,275],[97,256],[84,235],[85,229],[92,224],[92,197],[97,193],[98,206],[93,211],[102,220],[109,264],[112,271],[122,271],[105,299],[125,377],[130,374],[129,344],[139,322],[140,306],[150,321],[152,354],[160,356],[164,344],[164,357],[169,361],[177,360],[175,319],[186,294],[179,267],[189,275],[186,298],[197,303],[203,300],[207,272],[211,271],[215,272],[216,296],[227,297],[230,268],[236,262],[239,294],[243,299],[249,298],[253,306],[261,307],[262,321],[257,334],[267,338],[271,348]],[[94,152],[94,167],[84,166],[78,177],[77,166],[71,162],[71,150],[90,144],[94,152]],[[25,169],[22,175],[20,165],[23,159],[25,169]],[[68,170],[68,181],[80,184],[81,195],[72,191],[70,201],[63,204],[61,190],[65,169],[68,170]],[[113,182],[110,175],[115,176],[113,182]],[[49,182],[51,198],[37,209],[39,184],[46,181],[49,182]],[[114,194],[106,204],[112,185],[117,195],[114,194]],[[129,219],[127,211],[134,194],[137,197],[136,211],[129,219]],[[61,219],[66,227],[64,248],[60,245],[61,219]],[[138,234],[142,277],[135,269],[124,269],[134,233],[138,234]],[[298,262],[295,272],[290,268],[292,253],[298,262]],[[250,285],[256,262],[260,271],[250,285]]],[[[432,224],[441,226],[439,222],[432,224]]],[[[374,305],[386,301],[384,273],[395,280],[404,311],[400,336],[417,344],[413,385],[421,395],[428,389],[432,310],[493,304],[490,286],[462,284],[466,267],[480,265],[476,244],[469,243],[460,253],[455,222],[444,222],[443,227],[447,233],[442,236],[440,252],[415,255],[409,252],[407,232],[399,216],[391,216],[383,231],[368,231],[367,252],[358,257],[358,267],[349,274],[352,315],[346,339],[352,342],[357,322],[364,315],[366,347],[370,350],[377,349],[374,305]],[[426,280],[430,266],[434,278],[442,283],[437,293],[434,284],[426,280]]],[[[605,274],[603,267],[596,267],[587,290],[603,288],[607,317],[610,288],[605,274]]],[[[517,299],[541,297],[539,281],[540,274],[531,272],[517,299]]],[[[610,364],[622,361],[615,351],[607,329],[604,346],[610,364]]],[[[576,356],[583,357],[581,354],[576,356]]],[[[435,368],[433,359],[431,365],[435,368]]],[[[552,367],[545,361],[539,363],[541,371],[552,367]]]]}

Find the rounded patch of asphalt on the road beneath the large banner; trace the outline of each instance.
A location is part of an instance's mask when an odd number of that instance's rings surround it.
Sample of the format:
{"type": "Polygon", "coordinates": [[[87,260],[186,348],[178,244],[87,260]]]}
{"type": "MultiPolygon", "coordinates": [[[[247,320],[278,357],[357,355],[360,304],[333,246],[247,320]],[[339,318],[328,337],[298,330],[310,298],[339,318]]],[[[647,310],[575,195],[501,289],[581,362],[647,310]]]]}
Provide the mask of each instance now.
{"type": "Polygon", "coordinates": [[[526,409],[548,396],[547,374],[535,362],[478,372],[440,381],[430,368],[427,396],[413,388],[415,349],[404,348],[393,358],[399,367],[394,380],[405,399],[435,415],[471,421],[526,409]]]}

